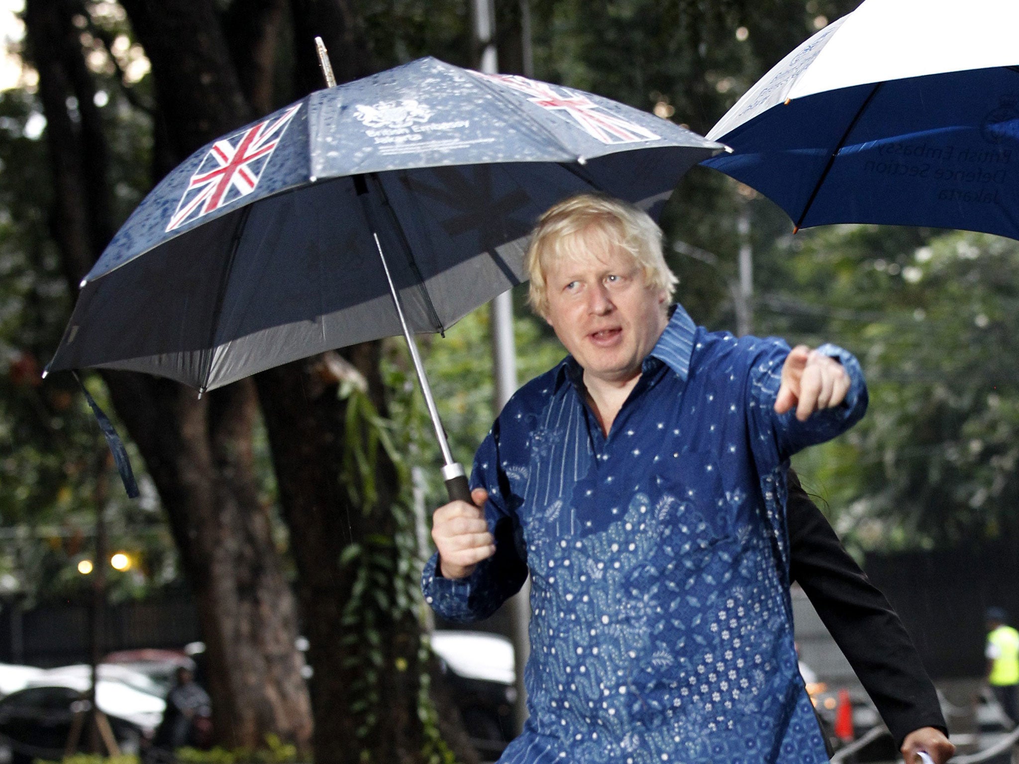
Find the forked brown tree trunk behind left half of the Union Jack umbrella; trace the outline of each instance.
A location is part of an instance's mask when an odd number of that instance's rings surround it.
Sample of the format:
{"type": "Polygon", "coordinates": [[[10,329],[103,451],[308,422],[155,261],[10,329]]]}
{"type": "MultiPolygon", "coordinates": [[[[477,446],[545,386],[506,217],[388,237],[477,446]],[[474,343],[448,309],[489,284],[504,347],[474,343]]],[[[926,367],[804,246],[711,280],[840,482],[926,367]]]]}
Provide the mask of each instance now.
{"type": "MultiPolygon", "coordinates": [[[[172,47],[191,76],[167,83],[157,73],[161,111],[172,115],[168,135],[182,156],[243,120],[245,108],[230,95],[231,87],[236,93],[231,69],[217,66],[222,42],[215,28],[203,26],[211,10],[203,3],[176,5],[164,2],[157,13],[144,3],[125,3],[138,14],[140,35],[174,36],[162,48],[150,49],[143,40],[150,55],[155,50],[159,60],[172,47]]],[[[54,237],[72,289],[113,230],[105,139],[71,23],[85,12],[76,0],[31,0],[25,12],[48,124],[54,237]],[[68,112],[68,96],[77,100],[77,120],[68,112]]],[[[307,749],[311,714],[294,649],[296,608],[254,476],[254,385],[244,382],[199,400],[166,380],[112,372],[104,378],[159,490],[195,590],[217,738],[229,747],[256,748],[275,732],[307,749]]]]}

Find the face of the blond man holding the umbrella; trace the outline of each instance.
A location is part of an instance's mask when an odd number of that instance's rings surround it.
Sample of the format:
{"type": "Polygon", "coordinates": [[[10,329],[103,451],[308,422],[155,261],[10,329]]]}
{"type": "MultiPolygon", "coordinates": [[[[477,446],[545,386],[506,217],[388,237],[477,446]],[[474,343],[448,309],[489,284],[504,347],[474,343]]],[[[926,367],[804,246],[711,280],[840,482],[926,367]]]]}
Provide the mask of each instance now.
{"type": "Polygon", "coordinates": [[[560,259],[544,271],[545,320],[584,369],[585,379],[627,382],[641,373],[668,319],[664,289],[646,285],[633,257],[606,237],[578,234],[580,258],[560,259]]]}

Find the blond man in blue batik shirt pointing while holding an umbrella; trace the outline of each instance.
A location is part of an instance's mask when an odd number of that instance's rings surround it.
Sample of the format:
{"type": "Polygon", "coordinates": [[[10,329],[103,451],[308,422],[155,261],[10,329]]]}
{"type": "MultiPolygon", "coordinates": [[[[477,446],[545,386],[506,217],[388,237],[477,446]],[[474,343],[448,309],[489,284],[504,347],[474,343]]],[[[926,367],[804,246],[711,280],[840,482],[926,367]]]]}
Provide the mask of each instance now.
{"type": "Polygon", "coordinates": [[[859,365],[669,316],[660,235],[600,197],[542,216],[532,305],[571,356],[479,448],[477,506],[436,510],[425,596],[484,617],[530,567],[531,717],[500,762],[826,761],[793,648],[786,466],[863,415],[859,365]]]}

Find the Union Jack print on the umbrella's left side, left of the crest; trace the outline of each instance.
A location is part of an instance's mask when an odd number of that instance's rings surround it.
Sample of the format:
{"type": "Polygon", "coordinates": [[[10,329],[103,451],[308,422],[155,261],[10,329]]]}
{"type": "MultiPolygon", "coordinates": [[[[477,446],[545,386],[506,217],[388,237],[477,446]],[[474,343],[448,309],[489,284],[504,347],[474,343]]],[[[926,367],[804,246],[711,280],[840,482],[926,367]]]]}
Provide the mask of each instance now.
{"type": "Polygon", "coordinates": [[[300,108],[301,104],[291,106],[275,120],[259,122],[213,144],[192,175],[166,226],[167,232],[255,190],[286,125],[300,108]]]}

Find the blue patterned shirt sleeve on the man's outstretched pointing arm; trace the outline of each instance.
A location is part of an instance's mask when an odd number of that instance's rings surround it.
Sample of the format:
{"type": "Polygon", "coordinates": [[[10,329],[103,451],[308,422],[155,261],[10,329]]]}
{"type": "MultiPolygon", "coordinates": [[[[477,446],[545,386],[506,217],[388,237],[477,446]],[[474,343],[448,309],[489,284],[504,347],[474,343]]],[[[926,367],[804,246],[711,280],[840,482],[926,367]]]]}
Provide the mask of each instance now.
{"type": "Polygon", "coordinates": [[[867,411],[867,386],[855,356],[838,345],[823,344],[817,351],[838,361],[849,375],[845,400],[832,408],[814,412],[806,422],[796,419],[795,407],[777,414],[774,401],[779,397],[782,368],[790,348],[782,339],[756,342],[760,346],[750,369],[748,405],[754,455],[761,474],[766,475],[797,451],[830,440],[859,422],[867,411]]]}

